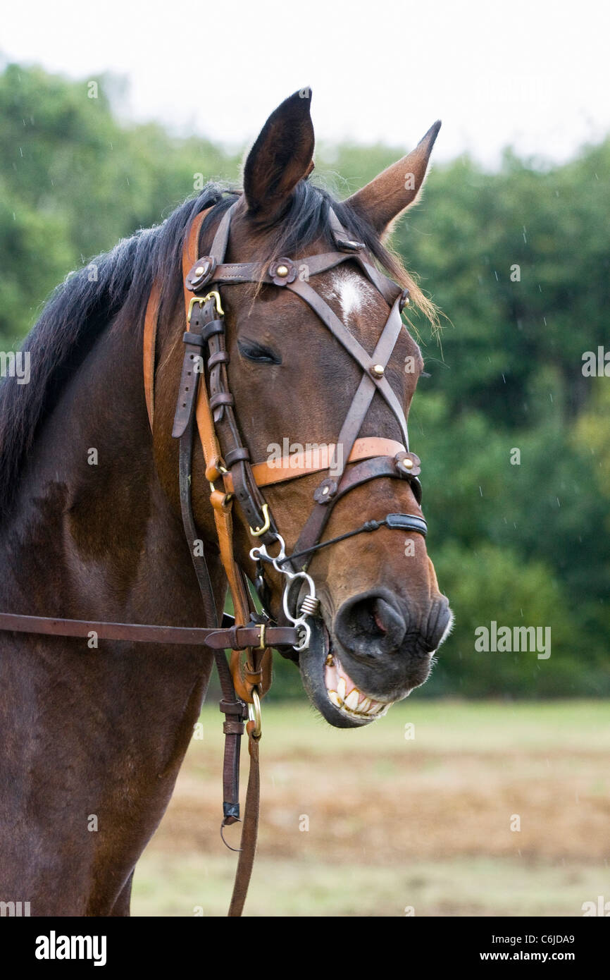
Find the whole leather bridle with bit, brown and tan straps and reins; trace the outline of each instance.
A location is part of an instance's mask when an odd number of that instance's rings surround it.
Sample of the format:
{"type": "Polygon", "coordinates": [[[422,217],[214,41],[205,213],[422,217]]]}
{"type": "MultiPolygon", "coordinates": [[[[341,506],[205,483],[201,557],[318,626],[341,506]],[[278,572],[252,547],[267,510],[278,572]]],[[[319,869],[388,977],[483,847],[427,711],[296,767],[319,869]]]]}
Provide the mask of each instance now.
{"type": "MultiPolygon", "coordinates": [[[[246,731],[251,757],[250,778],[229,915],[240,915],[242,912],[257,843],[260,698],[270,686],[270,648],[275,647],[283,656],[296,659],[295,654],[298,655],[308,647],[311,631],[307,620],[319,610],[315,585],[307,571],[313,555],[339,541],[361,533],[374,532],[382,526],[415,531],[424,536],[427,531],[426,521],[419,515],[388,514],[381,519],[369,519],[334,538],[322,540],[337,502],[352,489],[370,480],[380,477],[406,480],[417,503],[421,502],[421,485],[418,479],[420,460],[409,451],[406,418],[399,398],[385,376],[402,329],[400,314],[408,303],[408,290],[402,289],[365,258],[365,246],[349,237],[332,209],[329,211],[329,219],[335,250],[312,255],[298,262],[281,257],[266,265],[255,262],[226,263],[231,219],[239,200],[224,212],[208,255],[198,258],[202,226],[212,208],[201,212],[191,222],[182,253],[186,330],[183,335],[184,357],[172,436],[179,440],[178,472],[182,521],[201,590],[206,621],[213,625],[203,629],[0,613],[2,630],[81,637],[86,637],[94,630],[100,639],[202,644],[213,650],[222,690],[220,710],[225,715],[221,834],[224,827],[240,819],[240,738],[244,732],[244,722],[249,718],[246,731]],[[328,303],[309,284],[312,276],[334,269],[346,261],[357,263],[390,306],[388,319],[372,355],[365,351],[328,303]],[[318,466],[308,460],[305,454],[283,457],[273,465],[270,462],[253,465],[251,462],[236,417],[235,399],[229,387],[229,354],[220,292],[231,284],[248,282],[272,284],[299,296],[362,370],[362,377],[338,436],[335,448],[341,447],[341,461],[336,458],[337,465],[332,467],[332,475],[326,465],[327,461],[318,466]],[[359,438],[376,392],[397,418],[402,443],[377,437],[359,438]],[[221,623],[218,623],[211,577],[203,548],[197,547],[201,544],[201,538],[191,500],[195,430],[203,449],[220,559],[235,611],[234,619],[223,615],[221,623]],[[287,555],[284,538],[261,488],[315,472],[321,473],[322,478],[313,493],[311,511],[292,554],[287,555]],[[254,585],[261,613],[256,611],[245,573],[235,559],[232,520],[234,500],[240,505],[250,533],[257,542],[250,557],[257,568],[254,585]],[[271,548],[274,549],[274,554],[270,554],[271,548]],[[280,622],[275,622],[269,611],[269,587],[265,575],[265,568],[269,565],[286,578],[280,622]],[[295,606],[297,598],[298,607],[295,606]],[[228,663],[225,649],[231,651],[228,663]]],[[[153,432],[161,296],[161,286],[154,282],[146,308],[143,341],[144,390],[153,432]]]]}

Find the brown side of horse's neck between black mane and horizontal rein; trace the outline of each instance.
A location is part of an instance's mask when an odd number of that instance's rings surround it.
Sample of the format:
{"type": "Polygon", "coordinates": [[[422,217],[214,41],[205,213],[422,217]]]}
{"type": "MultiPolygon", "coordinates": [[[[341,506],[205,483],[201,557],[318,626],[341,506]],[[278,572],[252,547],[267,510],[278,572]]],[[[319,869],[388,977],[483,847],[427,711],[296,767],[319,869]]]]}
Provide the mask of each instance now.
{"type": "Polygon", "coordinates": [[[203,624],[181,522],[157,477],[133,333],[108,328],[66,384],[5,542],[7,610],[203,624]]]}

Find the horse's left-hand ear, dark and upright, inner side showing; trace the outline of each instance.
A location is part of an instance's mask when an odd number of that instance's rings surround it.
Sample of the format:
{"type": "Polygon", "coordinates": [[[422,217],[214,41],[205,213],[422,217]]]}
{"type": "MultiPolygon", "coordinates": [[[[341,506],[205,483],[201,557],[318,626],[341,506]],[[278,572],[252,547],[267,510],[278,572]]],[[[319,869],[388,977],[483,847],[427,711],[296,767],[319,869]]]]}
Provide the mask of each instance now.
{"type": "Polygon", "coordinates": [[[310,106],[310,88],[291,95],[271,113],[248,154],[244,194],[249,212],[257,218],[272,218],[313,170],[310,106]]]}

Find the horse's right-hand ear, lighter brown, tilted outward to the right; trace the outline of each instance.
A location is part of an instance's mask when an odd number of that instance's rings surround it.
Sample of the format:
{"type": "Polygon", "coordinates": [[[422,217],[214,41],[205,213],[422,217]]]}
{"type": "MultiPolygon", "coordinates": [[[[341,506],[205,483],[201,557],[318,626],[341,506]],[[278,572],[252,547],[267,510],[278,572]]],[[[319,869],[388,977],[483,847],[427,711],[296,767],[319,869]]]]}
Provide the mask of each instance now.
{"type": "Polygon", "coordinates": [[[382,234],[417,198],[441,121],[430,127],[414,150],[392,164],[346,201],[382,234]]]}

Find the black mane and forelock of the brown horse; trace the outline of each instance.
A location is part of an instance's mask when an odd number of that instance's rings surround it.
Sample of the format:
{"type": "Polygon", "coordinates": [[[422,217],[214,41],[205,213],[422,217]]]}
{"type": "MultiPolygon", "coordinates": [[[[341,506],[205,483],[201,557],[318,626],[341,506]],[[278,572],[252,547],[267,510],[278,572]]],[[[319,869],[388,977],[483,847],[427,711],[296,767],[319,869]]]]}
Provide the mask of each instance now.
{"type": "MultiPolygon", "coordinates": [[[[70,374],[119,312],[127,321],[142,322],[154,279],[164,283],[162,313],[165,305],[177,302],[182,288],[182,249],[191,221],[212,207],[204,222],[205,234],[209,222],[237,194],[207,184],[199,197],[185,201],[163,224],[121,240],[111,252],[70,273],[55,289],[23,341],[22,350],[30,352],[29,383],[19,385],[17,378],[9,377],[0,384],[0,515],[7,515],[15,500],[25,458],[70,374]]],[[[404,270],[372,227],[306,180],[298,184],[286,213],[273,229],[273,255],[265,258],[290,256],[320,238],[326,238],[332,247],[330,205],[352,238],[364,242],[386,270],[405,281],[404,270]]]]}

